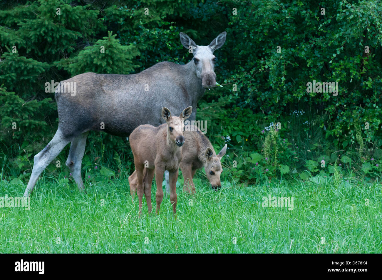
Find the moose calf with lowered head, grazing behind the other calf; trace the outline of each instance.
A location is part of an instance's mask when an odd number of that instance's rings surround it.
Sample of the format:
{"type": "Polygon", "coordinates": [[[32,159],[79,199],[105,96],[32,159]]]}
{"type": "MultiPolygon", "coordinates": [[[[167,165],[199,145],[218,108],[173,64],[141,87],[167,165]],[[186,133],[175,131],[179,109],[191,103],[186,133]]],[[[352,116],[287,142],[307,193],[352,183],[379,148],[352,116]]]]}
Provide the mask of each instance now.
{"type": "MultiPolygon", "coordinates": [[[[185,126],[184,136],[185,144],[182,147],[182,160],[179,165],[184,178],[183,191],[188,191],[189,193],[195,192],[193,178],[196,170],[203,166],[212,188],[220,188],[222,186],[220,183],[220,174],[223,171],[220,160],[227,151],[227,144],[225,144],[219,154],[216,154],[209,139],[194,125],[185,126]]],[[[147,184],[149,180],[147,177],[147,168],[145,168],[143,180],[145,184],[147,184]]],[[[129,185],[131,197],[133,197],[137,186],[136,171],[129,176],[129,185]]],[[[166,192],[170,192],[168,182],[166,192]]]]}

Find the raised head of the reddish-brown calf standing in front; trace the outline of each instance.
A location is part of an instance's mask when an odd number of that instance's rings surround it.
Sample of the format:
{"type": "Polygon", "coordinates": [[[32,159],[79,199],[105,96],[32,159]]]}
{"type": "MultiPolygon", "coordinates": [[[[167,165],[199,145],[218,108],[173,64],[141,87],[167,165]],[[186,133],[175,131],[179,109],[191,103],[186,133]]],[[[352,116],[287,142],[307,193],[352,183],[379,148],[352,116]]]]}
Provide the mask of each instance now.
{"type": "Polygon", "coordinates": [[[185,108],[179,117],[171,116],[170,110],[166,107],[162,108],[162,118],[167,123],[167,138],[174,141],[179,147],[185,144],[185,119],[191,115],[192,106],[185,108]]]}

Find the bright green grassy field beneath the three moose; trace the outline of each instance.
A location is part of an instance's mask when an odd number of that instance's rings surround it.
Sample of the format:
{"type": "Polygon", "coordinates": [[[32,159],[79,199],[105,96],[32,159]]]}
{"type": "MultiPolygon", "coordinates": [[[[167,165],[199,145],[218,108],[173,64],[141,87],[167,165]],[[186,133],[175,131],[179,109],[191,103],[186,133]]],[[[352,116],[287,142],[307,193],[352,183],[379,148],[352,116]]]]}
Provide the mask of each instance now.
{"type": "MultiPolygon", "coordinates": [[[[194,196],[177,189],[176,219],[166,197],[159,215],[147,215],[144,200],[139,218],[127,178],[87,185],[83,194],[72,183],[42,177],[30,210],[0,208],[0,252],[382,252],[379,183],[225,184],[220,191],[204,180],[196,185],[194,196]],[[293,197],[293,210],[262,207],[269,194],[293,197]]],[[[21,196],[24,189],[1,181],[0,197],[21,196]]],[[[154,207],[155,189],[153,183],[154,207]]]]}

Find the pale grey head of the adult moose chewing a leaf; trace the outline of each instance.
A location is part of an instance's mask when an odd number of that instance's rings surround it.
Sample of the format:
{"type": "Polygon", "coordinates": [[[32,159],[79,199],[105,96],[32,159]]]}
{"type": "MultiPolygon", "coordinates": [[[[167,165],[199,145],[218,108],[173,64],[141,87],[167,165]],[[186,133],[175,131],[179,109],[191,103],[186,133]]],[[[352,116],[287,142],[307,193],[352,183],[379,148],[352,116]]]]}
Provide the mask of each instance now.
{"type": "Polygon", "coordinates": [[[227,32],[220,33],[208,46],[198,46],[185,33],[180,32],[180,41],[186,49],[191,49],[193,57],[193,70],[196,76],[201,79],[202,86],[205,88],[216,85],[214,51],[222,47],[227,36],[227,32]]]}

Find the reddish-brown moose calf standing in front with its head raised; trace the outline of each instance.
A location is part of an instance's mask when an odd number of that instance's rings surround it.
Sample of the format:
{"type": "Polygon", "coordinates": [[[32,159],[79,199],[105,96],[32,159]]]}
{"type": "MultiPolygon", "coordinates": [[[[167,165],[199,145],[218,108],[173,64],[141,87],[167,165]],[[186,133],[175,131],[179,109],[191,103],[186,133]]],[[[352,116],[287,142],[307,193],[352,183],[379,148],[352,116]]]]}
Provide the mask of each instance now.
{"type": "Polygon", "coordinates": [[[147,207],[151,213],[151,183],[154,178],[157,182],[157,213],[163,199],[163,173],[168,170],[170,178],[170,201],[174,215],[176,213],[176,180],[178,180],[179,163],[182,159],[181,146],[185,143],[184,120],[191,115],[192,106],[183,110],[179,117],[172,117],[170,110],[162,108],[162,118],[165,124],[158,127],[140,125],[130,134],[130,146],[134,155],[134,165],[137,173],[137,193],[139,201],[139,214],[142,215],[143,192],[147,207]],[[143,171],[147,167],[147,179],[143,183],[143,171]]]}

